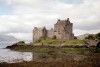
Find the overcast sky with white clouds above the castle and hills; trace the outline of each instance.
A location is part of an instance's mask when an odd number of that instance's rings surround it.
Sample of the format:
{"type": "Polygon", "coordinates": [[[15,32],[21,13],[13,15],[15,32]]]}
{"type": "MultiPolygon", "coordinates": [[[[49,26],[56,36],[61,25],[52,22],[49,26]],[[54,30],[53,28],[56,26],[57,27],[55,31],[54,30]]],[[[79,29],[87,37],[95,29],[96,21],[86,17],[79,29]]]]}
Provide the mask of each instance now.
{"type": "Polygon", "coordinates": [[[0,34],[31,40],[35,26],[53,27],[57,19],[74,24],[74,34],[100,32],[100,0],[0,0],[0,34]]]}

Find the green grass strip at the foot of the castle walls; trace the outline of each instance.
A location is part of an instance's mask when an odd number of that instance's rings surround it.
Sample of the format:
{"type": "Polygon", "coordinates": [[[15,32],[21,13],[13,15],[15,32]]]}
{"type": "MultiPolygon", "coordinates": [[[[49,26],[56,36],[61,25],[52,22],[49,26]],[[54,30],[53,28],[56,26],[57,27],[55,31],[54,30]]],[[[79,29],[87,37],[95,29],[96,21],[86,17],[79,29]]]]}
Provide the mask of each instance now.
{"type": "Polygon", "coordinates": [[[69,40],[69,41],[61,41],[61,40],[56,40],[56,39],[45,39],[45,40],[40,40],[37,42],[33,42],[33,44],[67,44],[67,45],[76,45],[76,44],[86,44],[85,41],[83,40],[69,40]]]}

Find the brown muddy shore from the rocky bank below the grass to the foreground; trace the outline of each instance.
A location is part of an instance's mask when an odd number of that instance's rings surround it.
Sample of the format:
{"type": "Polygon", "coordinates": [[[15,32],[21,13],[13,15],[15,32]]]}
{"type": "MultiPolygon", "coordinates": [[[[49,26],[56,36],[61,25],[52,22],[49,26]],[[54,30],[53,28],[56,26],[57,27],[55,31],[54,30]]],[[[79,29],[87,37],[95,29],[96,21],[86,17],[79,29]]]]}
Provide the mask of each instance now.
{"type": "Polygon", "coordinates": [[[33,61],[0,63],[0,67],[99,67],[100,53],[91,52],[87,47],[12,45],[7,49],[32,52],[33,61]]]}

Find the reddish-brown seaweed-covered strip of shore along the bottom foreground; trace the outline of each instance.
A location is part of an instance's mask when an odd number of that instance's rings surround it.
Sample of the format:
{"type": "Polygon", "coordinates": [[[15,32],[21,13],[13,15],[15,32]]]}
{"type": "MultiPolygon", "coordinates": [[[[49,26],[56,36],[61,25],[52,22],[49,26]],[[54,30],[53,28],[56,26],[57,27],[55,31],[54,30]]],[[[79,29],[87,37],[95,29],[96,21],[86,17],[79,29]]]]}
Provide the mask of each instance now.
{"type": "Polygon", "coordinates": [[[19,63],[0,63],[0,67],[99,67],[100,54],[94,53],[88,58],[81,61],[52,61],[52,62],[19,62],[19,63]]]}

